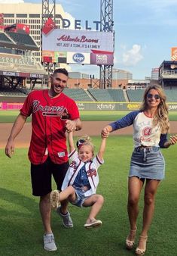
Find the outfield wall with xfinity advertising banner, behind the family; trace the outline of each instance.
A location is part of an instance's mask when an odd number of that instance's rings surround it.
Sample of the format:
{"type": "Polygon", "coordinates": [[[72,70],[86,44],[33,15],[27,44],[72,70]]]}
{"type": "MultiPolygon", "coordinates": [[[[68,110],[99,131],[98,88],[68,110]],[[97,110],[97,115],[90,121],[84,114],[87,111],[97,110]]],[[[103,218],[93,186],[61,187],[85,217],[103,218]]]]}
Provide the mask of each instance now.
{"type": "MultiPolygon", "coordinates": [[[[139,102],[84,102],[76,101],[81,111],[134,111],[138,110],[139,102]]],[[[177,111],[177,102],[169,102],[169,111],[177,111]]],[[[0,110],[18,110],[23,103],[0,102],[0,110]]]]}

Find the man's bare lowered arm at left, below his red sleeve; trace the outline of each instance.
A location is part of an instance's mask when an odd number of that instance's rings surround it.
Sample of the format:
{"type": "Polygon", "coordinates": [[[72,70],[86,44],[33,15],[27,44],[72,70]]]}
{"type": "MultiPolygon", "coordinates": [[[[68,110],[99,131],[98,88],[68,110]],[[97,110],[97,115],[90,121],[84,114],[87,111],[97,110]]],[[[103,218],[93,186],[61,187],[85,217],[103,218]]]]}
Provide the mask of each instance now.
{"type": "Polygon", "coordinates": [[[5,146],[5,155],[7,155],[8,158],[11,158],[11,155],[14,154],[14,139],[22,130],[26,122],[26,118],[27,117],[23,116],[23,114],[19,114],[14,122],[14,125],[12,126],[10,136],[8,137],[7,145],[5,146]]]}

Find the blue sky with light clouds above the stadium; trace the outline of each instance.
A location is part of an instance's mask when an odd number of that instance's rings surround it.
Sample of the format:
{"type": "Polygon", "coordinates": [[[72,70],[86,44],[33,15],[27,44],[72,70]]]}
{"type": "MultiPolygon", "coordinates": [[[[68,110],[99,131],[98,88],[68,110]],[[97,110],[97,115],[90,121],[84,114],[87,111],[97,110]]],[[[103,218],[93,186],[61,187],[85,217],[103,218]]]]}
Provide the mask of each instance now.
{"type": "MultiPolygon", "coordinates": [[[[0,0],[5,3],[6,0],[0,0]]],[[[17,0],[7,0],[17,2],[17,0]]],[[[41,3],[39,0],[18,2],[41,3]]],[[[50,1],[52,2],[52,1],[50,1]]],[[[65,12],[84,27],[93,20],[100,20],[101,0],[56,0],[65,12]]],[[[151,69],[163,61],[170,61],[171,48],[177,47],[177,1],[176,0],[113,0],[114,20],[114,67],[133,73],[133,79],[151,76],[151,69]]],[[[99,77],[95,65],[71,65],[72,71],[94,74],[99,77]]]]}

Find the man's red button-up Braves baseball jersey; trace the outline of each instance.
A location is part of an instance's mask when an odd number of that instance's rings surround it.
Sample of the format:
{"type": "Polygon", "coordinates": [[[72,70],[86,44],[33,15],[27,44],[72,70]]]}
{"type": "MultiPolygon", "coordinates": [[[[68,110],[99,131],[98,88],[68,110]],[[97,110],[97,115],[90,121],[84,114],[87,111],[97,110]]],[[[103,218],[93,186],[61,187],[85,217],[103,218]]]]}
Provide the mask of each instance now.
{"type": "Polygon", "coordinates": [[[20,113],[26,117],[32,114],[29,161],[42,164],[48,155],[56,164],[68,161],[65,123],[67,119],[79,118],[75,101],[63,92],[56,98],[50,98],[48,89],[33,91],[26,98],[20,113]]]}

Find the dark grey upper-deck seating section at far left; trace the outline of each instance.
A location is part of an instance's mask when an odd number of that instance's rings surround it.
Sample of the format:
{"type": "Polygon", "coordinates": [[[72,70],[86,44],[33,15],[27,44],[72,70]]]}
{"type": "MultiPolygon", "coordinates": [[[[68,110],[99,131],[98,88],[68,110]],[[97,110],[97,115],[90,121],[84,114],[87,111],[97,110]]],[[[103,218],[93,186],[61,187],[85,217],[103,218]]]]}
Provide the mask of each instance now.
{"type": "Polygon", "coordinates": [[[1,32],[0,33],[0,46],[11,47],[21,50],[38,51],[38,45],[29,34],[17,32],[1,32]]]}

